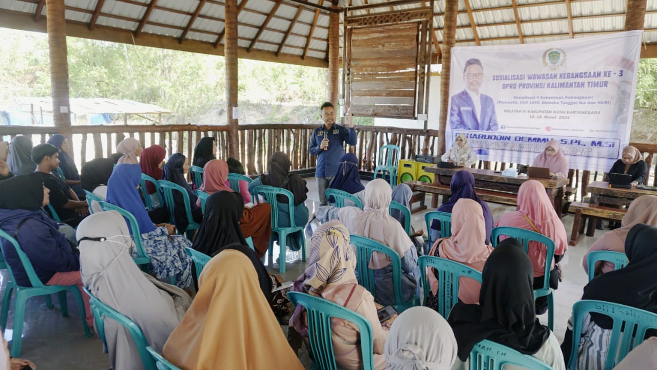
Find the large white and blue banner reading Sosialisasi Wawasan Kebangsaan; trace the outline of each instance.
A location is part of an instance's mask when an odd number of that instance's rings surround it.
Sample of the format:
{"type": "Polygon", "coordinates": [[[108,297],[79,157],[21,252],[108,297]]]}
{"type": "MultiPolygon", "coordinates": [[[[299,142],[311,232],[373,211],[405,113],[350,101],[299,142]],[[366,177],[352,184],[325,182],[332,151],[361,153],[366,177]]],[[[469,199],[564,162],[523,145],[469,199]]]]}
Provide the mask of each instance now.
{"type": "Polygon", "coordinates": [[[570,168],[608,171],[629,143],[642,31],[454,47],[445,146],[531,164],[556,140],[570,168]]]}

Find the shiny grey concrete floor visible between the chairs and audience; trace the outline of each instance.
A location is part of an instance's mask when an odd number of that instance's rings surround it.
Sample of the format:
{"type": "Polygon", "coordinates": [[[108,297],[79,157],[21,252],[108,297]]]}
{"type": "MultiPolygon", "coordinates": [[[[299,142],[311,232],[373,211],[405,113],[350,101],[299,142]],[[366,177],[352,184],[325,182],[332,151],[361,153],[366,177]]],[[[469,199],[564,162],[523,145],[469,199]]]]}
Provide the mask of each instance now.
{"type": "MultiPolygon", "coordinates": [[[[308,199],[306,205],[310,213],[319,207],[319,196],[317,195],[317,184],[314,178],[306,179],[308,184],[308,199]]],[[[430,197],[426,199],[430,205],[430,197]]],[[[489,203],[493,218],[514,207],[489,203]]],[[[431,210],[431,209],[429,209],[431,210]]],[[[424,212],[412,215],[411,221],[416,229],[423,228],[424,212]]],[[[562,219],[566,231],[570,235],[573,223],[573,215],[567,215],[562,219]]],[[[581,267],[583,255],[589,246],[606,231],[596,230],[595,236],[585,237],[575,247],[570,247],[566,256],[561,261],[564,279],[555,292],[555,334],[559,341],[563,340],[566,330],[566,322],[571,315],[572,304],[581,298],[582,288],[587,282],[587,275],[581,267]]],[[[275,248],[276,250],[276,248],[275,248]]],[[[277,257],[274,252],[274,260],[277,257]]],[[[295,280],[305,269],[306,263],[300,259],[300,252],[287,252],[287,271],[283,274],[284,280],[295,280]]],[[[267,257],[265,257],[267,261],[267,257]]],[[[278,265],[274,268],[267,267],[271,273],[278,273],[278,265]]],[[[0,272],[0,297],[4,292],[7,271],[0,272]]],[[[13,303],[13,302],[12,302],[13,303]]],[[[28,301],[23,329],[22,354],[20,357],[34,361],[39,370],[90,370],[109,369],[109,357],[102,353],[102,342],[94,334],[91,338],[85,338],[79,319],[77,306],[69,294],[68,309],[70,317],[60,315],[57,298],[53,297],[55,309],[48,309],[43,298],[32,298],[28,301]]],[[[539,317],[541,322],[547,325],[547,314],[539,317]]],[[[8,330],[5,330],[5,338],[11,340],[11,327],[13,323],[13,310],[9,313],[7,321],[8,330]]],[[[286,330],[286,327],[282,327],[286,330]]],[[[309,359],[305,352],[300,354],[302,363],[309,368],[309,359]]]]}

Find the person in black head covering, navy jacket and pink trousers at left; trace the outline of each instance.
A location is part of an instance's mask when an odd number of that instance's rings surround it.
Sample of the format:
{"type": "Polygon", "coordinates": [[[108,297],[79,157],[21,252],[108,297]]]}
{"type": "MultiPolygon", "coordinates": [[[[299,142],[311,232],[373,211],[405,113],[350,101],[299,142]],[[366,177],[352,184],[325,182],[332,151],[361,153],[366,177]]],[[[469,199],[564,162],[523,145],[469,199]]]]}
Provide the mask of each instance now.
{"type": "MultiPolygon", "coordinates": [[[[49,190],[43,186],[39,172],[0,181],[0,228],[16,238],[43,284],[78,286],[87,324],[93,327],[89,296],[82,289],[78,253],[59,232],[57,223],[41,212],[49,201],[49,190]]],[[[3,239],[2,251],[16,284],[32,286],[14,246],[3,239]]]]}

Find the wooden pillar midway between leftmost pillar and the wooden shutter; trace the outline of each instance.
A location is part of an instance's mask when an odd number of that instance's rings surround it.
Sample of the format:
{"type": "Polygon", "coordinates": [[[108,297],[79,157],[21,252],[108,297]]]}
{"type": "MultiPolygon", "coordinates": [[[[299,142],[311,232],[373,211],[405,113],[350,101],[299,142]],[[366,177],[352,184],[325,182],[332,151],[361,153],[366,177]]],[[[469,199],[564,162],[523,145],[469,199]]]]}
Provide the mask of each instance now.
{"type": "Polygon", "coordinates": [[[237,107],[237,0],[226,0],[225,3],[223,50],[226,63],[226,117],[230,128],[228,153],[230,157],[239,158],[239,122],[233,118],[233,107],[237,107]]]}

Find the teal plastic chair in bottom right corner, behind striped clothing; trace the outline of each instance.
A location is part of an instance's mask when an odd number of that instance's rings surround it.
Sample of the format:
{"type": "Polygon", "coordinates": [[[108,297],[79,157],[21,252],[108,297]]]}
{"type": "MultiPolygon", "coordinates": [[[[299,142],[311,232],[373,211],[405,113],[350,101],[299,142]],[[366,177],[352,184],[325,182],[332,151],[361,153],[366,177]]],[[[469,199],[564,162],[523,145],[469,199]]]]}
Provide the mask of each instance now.
{"type": "Polygon", "coordinates": [[[657,329],[655,313],[612,302],[595,300],[576,302],[573,305],[573,342],[568,369],[574,369],[578,360],[579,337],[585,313],[600,313],[614,321],[603,369],[612,369],[627,356],[628,352],[639,346],[646,336],[646,330],[657,329]]]}

